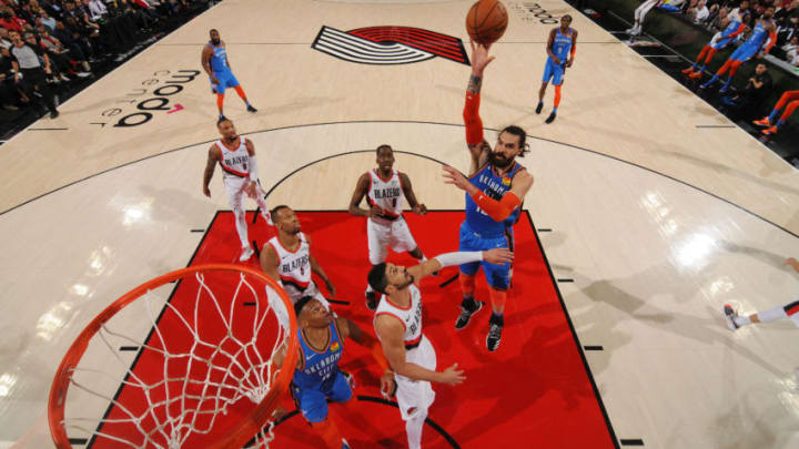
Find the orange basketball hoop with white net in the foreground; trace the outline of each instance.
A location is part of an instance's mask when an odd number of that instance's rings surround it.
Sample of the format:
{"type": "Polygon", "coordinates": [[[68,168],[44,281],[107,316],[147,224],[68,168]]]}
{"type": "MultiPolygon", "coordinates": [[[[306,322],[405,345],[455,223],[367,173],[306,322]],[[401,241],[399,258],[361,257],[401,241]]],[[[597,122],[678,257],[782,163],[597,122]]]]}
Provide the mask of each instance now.
{"type": "Polygon", "coordinates": [[[221,449],[257,437],[255,446],[269,448],[271,414],[293,375],[272,359],[285,346],[284,366],[296,365],[296,329],[283,289],[246,266],[149,280],[101,312],[67,351],[50,389],[53,442],[221,449]]]}

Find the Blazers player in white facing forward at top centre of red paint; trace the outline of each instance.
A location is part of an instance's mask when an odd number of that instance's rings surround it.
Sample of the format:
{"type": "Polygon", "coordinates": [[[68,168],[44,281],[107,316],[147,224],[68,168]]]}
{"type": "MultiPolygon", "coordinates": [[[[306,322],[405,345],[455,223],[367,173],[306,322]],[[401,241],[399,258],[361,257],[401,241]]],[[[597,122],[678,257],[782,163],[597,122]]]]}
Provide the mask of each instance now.
{"type": "MultiPolygon", "coordinates": [[[[426,261],[416,245],[403,212],[403,195],[414,213],[424,215],[427,207],[416,201],[411,180],[405,173],[394,170],[394,150],[391,145],[380,145],[377,169],[370,170],[358,177],[350,201],[352,215],[365,216],[368,239],[370,262],[377,265],[385,262],[388,246],[397,253],[408,252],[417,259],[426,261]],[[370,208],[361,208],[361,200],[366,197],[370,208]]],[[[366,286],[366,307],[374,310],[377,295],[366,286]]]]}

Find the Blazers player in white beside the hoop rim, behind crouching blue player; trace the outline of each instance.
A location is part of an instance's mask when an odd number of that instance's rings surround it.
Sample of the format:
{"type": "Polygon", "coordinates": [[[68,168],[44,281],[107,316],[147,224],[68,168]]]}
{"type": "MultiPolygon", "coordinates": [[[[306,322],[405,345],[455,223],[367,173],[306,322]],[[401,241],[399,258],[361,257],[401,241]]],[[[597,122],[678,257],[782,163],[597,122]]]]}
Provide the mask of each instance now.
{"type": "MultiPolygon", "coordinates": [[[[316,273],[324,280],[333,296],[335,296],[335,287],[311,254],[311,241],[301,232],[296,214],[291,207],[281,205],[272,210],[272,222],[277,235],[263,246],[261,268],[281,284],[292,303],[296,303],[303,296],[311,296],[330,309],[330,303],[316,287],[311,273],[316,273]]],[[[280,310],[280,307],[276,310],[280,310]]],[[[285,318],[287,320],[287,316],[285,318]]]]}

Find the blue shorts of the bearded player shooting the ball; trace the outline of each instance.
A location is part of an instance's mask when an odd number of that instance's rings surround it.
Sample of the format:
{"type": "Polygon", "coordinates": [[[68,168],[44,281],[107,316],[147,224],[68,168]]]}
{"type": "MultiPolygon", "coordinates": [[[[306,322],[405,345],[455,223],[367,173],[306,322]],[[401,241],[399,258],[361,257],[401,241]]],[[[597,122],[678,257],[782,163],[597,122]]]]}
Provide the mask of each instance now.
{"type": "MultiPolygon", "coordinates": [[[[472,231],[472,228],[463,222],[461,224],[461,245],[458,251],[487,251],[494,248],[508,248],[513,251],[514,236],[513,228],[508,227],[505,229],[504,235],[498,236],[481,236],[479,234],[472,231]]],[[[474,276],[477,269],[483,267],[483,273],[486,275],[486,282],[492,288],[498,290],[506,290],[510,285],[510,264],[495,265],[489,264],[485,261],[471,262],[468,264],[461,265],[461,273],[474,276]]]]}

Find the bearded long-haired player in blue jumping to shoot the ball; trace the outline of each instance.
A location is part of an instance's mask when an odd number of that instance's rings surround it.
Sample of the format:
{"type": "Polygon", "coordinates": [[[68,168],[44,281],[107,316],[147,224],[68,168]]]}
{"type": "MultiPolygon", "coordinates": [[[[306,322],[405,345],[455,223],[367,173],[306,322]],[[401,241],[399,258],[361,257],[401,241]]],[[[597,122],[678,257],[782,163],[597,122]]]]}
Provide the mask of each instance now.
{"type": "MultiPolygon", "coordinates": [[[[444,176],[466,192],[466,221],[461,225],[459,251],[484,251],[508,248],[513,251],[513,225],[522,212],[522,200],[533,186],[533,176],[516,157],[523,157],[527,145],[527,134],[518,126],[507,126],[499,133],[492,150],[483,139],[483,121],[479,118],[479,92],[483,71],[494,60],[488,57],[490,45],[472,44],[472,76],[466,89],[464,123],[466,124],[466,144],[472,155],[469,176],[466,178],[457,170],[445,166],[444,176]]],[[[483,307],[483,302],[474,298],[475,275],[483,266],[488,282],[494,313],[488,322],[489,330],[486,347],[494,351],[499,347],[507,288],[510,285],[510,264],[492,265],[473,262],[461,265],[461,290],[463,292],[462,313],[455,323],[456,329],[464,328],[472,315],[483,307]]]]}

